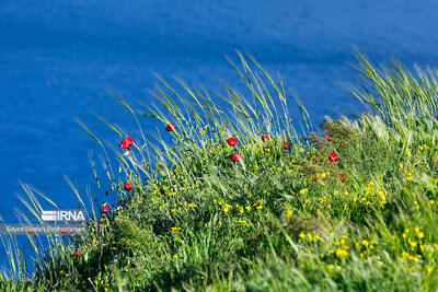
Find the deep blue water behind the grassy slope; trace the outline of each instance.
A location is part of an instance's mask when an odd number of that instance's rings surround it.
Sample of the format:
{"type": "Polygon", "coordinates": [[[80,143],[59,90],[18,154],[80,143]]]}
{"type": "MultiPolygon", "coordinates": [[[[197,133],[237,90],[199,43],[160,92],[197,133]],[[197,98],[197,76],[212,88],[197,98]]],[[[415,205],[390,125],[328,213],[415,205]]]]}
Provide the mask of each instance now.
{"type": "MultiPolygon", "coordinates": [[[[220,91],[220,80],[239,89],[223,57],[237,60],[239,49],[280,72],[291,113],[299,118],[298,96],[318,125],[324,115],[362,108],[346,90],[359,84],[353,46],[374,63],[394,57],[410,68],[436,66],[436,11],[437,1],[423,0],[0,0],[0,215],[18,222],[15,210],[25,209],[20,182],[76,208],[64,174],[84,198],[107,199],[89,161],[92,154],[99,164],[101,149],[73,118],[105,143],[119,141],[94,115],[138,137],[108,90],[140,108],[152,103],[154,73],[171,84],[178,77],[211,91],[220,91]]],[[[161,127],[140,122],[149,132],[161,127]]],[[[32,257],[26,241],[19,238],[32,257]]]]}

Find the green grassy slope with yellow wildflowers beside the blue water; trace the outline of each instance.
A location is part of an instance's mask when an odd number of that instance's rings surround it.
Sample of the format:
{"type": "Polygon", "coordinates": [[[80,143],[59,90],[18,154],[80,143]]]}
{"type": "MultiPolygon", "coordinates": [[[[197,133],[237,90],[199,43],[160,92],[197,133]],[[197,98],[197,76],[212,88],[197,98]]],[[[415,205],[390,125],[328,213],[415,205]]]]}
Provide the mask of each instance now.
{"type": "Polygon", "coordinates": [[[125,155],[110,145],[118,173],[104,162],[117,207],[68,245],[54,237],[32,276],[11,247],[15,268],[1,289],[436,291],[437,73],[399,62],[377,69],[358,55],[364,85],[351,92],[367,112],[326,118],[315,133],[302,106],[302,129],[291,126],[283,83],[239,56],[231,65],[247,92],[224,85],[228,108],[161,79],[158,107],[135,110],[117,97],[140,129],[125,155]],[[154,141],[139,115],[163,122],[154,141]]]}

